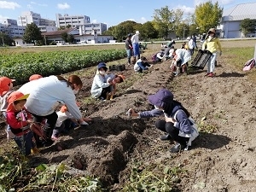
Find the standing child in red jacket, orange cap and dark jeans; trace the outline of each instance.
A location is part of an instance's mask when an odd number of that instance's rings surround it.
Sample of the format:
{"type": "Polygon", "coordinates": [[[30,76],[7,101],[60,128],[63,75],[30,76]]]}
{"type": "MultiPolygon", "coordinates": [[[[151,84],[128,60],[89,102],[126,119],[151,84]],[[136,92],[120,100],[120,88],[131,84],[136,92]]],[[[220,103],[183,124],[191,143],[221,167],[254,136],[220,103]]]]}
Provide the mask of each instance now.
{"type": "Polygon", "coordinates": [[[24,95],[20,91],[10,93],[7,98],[9,104],[6,110],[6,120],[15,134],[15,143],[19,146],[20,152],[25,155],[38,151],[32,141],[33,133],[30,127],[32,116],[24,107],[28,96],[29,94],[24,95]]]}

